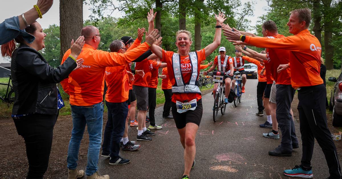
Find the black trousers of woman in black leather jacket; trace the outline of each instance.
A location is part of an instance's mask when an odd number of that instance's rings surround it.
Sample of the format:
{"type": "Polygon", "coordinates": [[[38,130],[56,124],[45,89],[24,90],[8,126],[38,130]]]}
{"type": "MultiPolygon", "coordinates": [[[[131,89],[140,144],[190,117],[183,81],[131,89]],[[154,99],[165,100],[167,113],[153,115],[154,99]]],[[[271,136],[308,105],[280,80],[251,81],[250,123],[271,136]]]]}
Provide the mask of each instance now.
{"type": "Polygon", "coordinates": [[[31,114],[13,118],[17,132],[25,140],[27,179],[42,179],[49,165],[53,127],[57,115],[31,114]]]}

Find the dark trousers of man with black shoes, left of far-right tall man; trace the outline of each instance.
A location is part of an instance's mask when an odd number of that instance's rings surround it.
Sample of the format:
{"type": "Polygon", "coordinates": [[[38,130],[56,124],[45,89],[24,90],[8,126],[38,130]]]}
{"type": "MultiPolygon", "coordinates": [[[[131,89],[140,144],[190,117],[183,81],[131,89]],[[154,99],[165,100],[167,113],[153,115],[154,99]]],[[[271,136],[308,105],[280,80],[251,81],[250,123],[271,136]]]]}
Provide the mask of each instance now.
{"type": "Polygon", "coordinates": [[[294,89],[291,85],[277,85],[276,117],[281,131],[281,147],[292,150],[292,143],[298,144],[294,122],[290,113],[294,89]]]}

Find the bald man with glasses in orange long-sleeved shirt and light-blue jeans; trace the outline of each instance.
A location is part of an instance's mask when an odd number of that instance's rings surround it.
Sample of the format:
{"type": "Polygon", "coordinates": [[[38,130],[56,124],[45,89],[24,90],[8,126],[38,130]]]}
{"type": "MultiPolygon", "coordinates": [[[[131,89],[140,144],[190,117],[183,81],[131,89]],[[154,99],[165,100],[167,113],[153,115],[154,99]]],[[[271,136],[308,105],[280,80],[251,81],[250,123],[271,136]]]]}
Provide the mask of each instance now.
{"type": "MultiPolygon", "coordinates": [[[[61,82],[64,91],[70,96],[70,106],[73,117],[73,130],[68,147],[67,163],[68,169],[77,168],[78,153],[81,139],[86,124],[89,133],[88,163],[86,175],[90,178],[108,178],[108,175],[100,176],[97,171],[98,154],[101,148],[102,124],[103,124],[103,86],[106,66],[119,66],[127,64],[145,51],[149,44],[156,40],[157,31],[154,30],[146,36],[146,42],[125,54],[116,52],[96,50],[101,40],[101,34],[94,26],[82,28],[81,35],[84,36],[84,44],[79,58],[86,63],[76,71],[70,73],[69,77],[61,82]]],[[[63,56],[62,63],[69,56],[70,49],[63,56]]]]}

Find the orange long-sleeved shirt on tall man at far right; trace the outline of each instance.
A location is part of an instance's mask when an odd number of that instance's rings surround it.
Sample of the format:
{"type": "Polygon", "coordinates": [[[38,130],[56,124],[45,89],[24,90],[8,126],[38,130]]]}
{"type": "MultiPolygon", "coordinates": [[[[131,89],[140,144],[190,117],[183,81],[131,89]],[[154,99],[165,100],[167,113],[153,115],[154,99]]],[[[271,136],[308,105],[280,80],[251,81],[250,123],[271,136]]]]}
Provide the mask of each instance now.
{"type": "Polygon", "coordinates": [[[291,85],[294,89],[323,84],[320,78],[321,45],[307,29],[284,38],[246,36],[248,44],[290,50],[291,85]]]}

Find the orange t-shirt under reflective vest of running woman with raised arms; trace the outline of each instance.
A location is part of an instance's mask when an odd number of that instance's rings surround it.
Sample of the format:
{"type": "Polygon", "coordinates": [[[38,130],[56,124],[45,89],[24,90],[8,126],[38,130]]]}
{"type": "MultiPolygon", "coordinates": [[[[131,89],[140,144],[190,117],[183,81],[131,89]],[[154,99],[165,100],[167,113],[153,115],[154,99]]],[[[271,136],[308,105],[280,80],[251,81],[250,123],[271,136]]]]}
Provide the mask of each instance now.
{"type": "MultiPolygon", "coordinates": [[[[206,59],[206,53],[204,48],[201,50],[196,51],[197,52],[197,58],[198,58],[198,64],[197,64],[197,73],[199,74],[200,70],[200,63],[201,61],[206,59]]],[[[173,65],[172,65],[172,55],[173,51],[165,51],[162,50],[163,58],[161,61],[167,63],[167,68],[168,68],[168,73],[169,73],[169,79],[171,81],[171,84],[175,84],[175,79],[174,79],[174,73],[173,73],[173,65]]],[[[190,81],[191,75],[192,75],[192,68],[191,68],[191,63],[189,56],[181,56],[180,57],[181,61],[181,72],[182,72],[182,77],[184,80],[184,83],[187,84],[190,81]]],[[[200,100],[202,98],[201,94],[199,93],[173,93],[172,95],[172,102],[180,101],[180,102],[188,102],[193,99],[200,100]]]]}

